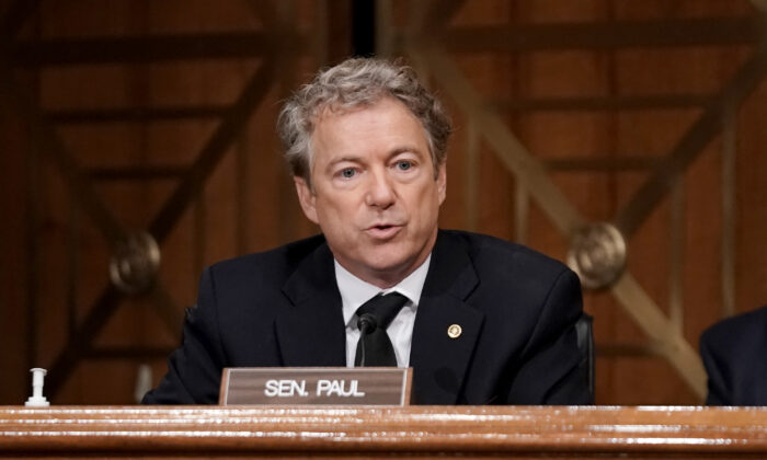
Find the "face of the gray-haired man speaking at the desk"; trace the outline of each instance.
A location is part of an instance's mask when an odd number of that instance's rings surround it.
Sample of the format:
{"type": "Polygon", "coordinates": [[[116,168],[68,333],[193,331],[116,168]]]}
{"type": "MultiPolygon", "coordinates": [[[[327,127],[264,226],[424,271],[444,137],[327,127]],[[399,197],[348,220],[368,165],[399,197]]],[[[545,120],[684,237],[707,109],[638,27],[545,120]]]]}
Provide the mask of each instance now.
{"type": "Polygon", "coordinates": [[[445,165],[434,164],[421,123],[399,101],[327,111],[311,137],[311,182],[296,177],[304,212],[339,263],[389,287],[428,256],[445,199],[445,165]]]}

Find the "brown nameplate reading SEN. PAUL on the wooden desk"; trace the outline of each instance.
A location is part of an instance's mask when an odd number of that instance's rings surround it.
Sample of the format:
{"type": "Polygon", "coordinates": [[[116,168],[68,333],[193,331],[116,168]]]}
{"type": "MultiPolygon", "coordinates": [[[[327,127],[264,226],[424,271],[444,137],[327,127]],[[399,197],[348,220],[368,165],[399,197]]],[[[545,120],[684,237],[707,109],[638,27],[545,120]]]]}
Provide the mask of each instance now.
{"type": "Polygon", "coordinates": [[[220,405],[410,405],[412,368],[232,367],[220,405]]]}

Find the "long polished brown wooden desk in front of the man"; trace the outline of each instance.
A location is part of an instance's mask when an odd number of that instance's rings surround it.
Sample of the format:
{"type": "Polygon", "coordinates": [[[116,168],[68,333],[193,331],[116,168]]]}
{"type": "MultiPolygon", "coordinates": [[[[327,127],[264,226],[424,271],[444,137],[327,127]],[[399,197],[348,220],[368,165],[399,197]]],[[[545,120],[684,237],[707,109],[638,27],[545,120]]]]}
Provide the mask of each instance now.
{"type": "Polygon", "coordinates": [[[767,458],[767,409],[0,409],[0,457],[767,458]]]}

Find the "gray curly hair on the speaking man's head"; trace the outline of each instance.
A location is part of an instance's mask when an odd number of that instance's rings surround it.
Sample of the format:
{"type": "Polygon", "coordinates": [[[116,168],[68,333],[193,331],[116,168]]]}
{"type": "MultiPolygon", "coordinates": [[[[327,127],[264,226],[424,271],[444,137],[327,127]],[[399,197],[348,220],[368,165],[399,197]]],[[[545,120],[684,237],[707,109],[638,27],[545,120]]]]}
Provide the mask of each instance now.
{"type": "Polygon", "coordinates": [[[311,135],[325,110],[370,106],[384,97],[403,103],[423,125],[436,177],[447,157],[450,119],[411,67],[377,58],[351,58],[321,70],[285,103],[277,129],[293,174],[311,184],[311,135]]]}

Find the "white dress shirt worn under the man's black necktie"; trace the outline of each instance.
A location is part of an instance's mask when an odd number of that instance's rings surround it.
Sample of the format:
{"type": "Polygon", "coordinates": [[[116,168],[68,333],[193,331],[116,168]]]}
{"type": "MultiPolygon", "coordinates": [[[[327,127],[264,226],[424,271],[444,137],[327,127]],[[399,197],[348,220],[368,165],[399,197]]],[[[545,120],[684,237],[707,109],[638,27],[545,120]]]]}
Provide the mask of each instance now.
{"type": "Polygon", "coordinates": [[[432,260],[430,254],[413,273],[401,280],[398,285],[381,289],[369,283],[365,283],[352,275],[346,268],[335,262],[335,280],[339,284],[341,300],[343,302],[344,323],[346,324],[346,367],[354,367],[354,355],[357,353],[357,342],[359,341],[359,329],[357,327],[357,309],[379,294],[399,292],[408,298],[402,310],[394,317],[387,327],[389,340],[394,347],[398,367],[410,365],[410,347],[413,342],[413,324],[415,324],[415,310],[421,299],[421,290],[426,280],[428,263],[432,260]]]}

